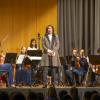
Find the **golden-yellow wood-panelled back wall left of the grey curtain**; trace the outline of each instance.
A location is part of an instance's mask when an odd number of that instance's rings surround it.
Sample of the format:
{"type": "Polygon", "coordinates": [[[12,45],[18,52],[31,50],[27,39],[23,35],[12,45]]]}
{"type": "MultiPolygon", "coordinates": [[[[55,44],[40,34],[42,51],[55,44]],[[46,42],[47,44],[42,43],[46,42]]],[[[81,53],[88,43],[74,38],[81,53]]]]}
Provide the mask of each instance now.
{"type": "Polygon", "coordinates": [[[57,0],[0,0],[0,50],[18,52],[52,24],[57,31],[57,0]]]}

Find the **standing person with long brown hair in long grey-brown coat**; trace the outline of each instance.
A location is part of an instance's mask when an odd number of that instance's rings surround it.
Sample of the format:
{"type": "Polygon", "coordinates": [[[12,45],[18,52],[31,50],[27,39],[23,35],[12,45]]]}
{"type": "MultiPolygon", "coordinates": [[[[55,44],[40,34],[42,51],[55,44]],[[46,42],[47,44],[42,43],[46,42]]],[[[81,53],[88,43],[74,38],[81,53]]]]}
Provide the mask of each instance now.
{"type": "Polygon", "coordinates": [[[43,66],[43,83],[44,88],[47,87],[48,77],[51,76],[51,82],[53,85],[57,84],[57,74],[58,68],[60,66],[59,60],[59,38],[58,35],[54,33],[54,27],[48,25],[46,27],[46,33],[42,39],[43,46],[43,56],[42,56],[42,66],[43,66]]]}

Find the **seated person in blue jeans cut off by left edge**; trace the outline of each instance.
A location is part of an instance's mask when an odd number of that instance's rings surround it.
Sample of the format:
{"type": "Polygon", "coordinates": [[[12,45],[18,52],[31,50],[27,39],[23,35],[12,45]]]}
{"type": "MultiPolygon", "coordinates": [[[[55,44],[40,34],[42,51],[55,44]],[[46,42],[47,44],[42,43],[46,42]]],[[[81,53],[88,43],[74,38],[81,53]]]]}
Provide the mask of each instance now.
{"type": "Polygon", "coordinates": [[[12,65],[11,64],[4,64],[5,55],[3,53],[0,54],[0,70],[4,70],[8,72],[8,85],[11,87],[15,87],[13,84],[13,77],[12,77],[12,65]]]}

